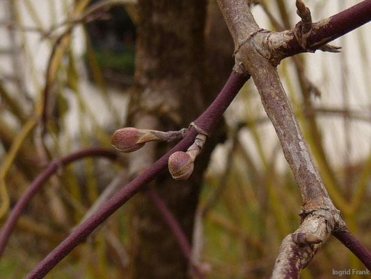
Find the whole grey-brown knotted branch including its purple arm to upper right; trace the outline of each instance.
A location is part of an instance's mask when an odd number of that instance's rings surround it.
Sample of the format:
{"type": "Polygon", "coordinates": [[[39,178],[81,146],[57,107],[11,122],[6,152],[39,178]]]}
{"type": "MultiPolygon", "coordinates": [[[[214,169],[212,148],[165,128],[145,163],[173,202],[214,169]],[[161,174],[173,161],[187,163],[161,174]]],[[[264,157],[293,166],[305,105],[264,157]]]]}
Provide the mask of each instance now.
{"type": "Polygon", "coordinates": [[[278,33],[260,29],[246,1],[218,0],[218,3],[235,42],[235,59],[241,66],[239,70],[253,77],[301,192],[302,224],[297,232],[284,239],[272,274],[272,278],[299,278],[301,269],[310,263],[332,232],[345,227],[345,222],[313,163],[276,65],[286,56],[315,50],[371,20],[371,1],[363,1],[329,20],[312,24],[310,11],[301,0],[297,0],[302,21],[296,29],[278,33]],[[297,33],[298,29],[300,33],[297,33]],[[295,44],[296,48],[290,49],[295,44]]]}

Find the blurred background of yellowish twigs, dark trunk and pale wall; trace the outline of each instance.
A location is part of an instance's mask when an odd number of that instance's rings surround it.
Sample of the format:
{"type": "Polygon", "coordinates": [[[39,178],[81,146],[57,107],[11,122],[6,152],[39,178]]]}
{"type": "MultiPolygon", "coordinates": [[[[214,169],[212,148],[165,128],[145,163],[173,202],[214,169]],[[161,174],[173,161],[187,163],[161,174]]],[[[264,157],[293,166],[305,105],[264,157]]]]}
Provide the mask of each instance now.
{"type": "MultiPolygon", "coordinates": [[[[50,161],[90,146],[111,148],[112,133],[125,126],[187,127],[221,89],[233,45],[216,3],[155,2],[0,1],[0,225],[50,161]]],[[[262,28],[299,22],[294,0],[251,2],[262,28]]],[[[305,2],[317,21],[361,1],[305,2]]],[[[331,43],[340,54],[300,54],[278,66],[324,183],[368,247],[370,34],[366,24],[331,43]]],[[[267,278],[283,237],[299,226],[301,196],[252,81],[213,138],[191,186],[163,174],[155,187],[193,238],[208,278],[267,278]],[[177,190],[180,196],[167,196],[177,190]]],[[[19,219],[0,278],[25,276],[96,208],[104,190],[112,195],[168,147],[149,148],[155,151],[143,164],[138,158],[149,149],[120,164],[88,158],[58,171],[19,219]]],[[[189,278],[187,260],[149,203],[144,195],[123,206],[47,278],[189,278]]],[[[349,268],[365,269],[330,238],[302,278],[349,268]]]]}

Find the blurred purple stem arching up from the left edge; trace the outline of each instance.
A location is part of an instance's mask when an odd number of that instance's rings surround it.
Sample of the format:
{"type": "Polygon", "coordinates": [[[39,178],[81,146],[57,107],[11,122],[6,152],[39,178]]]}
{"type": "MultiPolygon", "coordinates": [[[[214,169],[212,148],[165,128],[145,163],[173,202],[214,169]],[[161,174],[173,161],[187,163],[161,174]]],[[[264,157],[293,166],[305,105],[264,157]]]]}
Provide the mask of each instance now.
{"type": "Polygon", "coordinates": [[[22,214],[22,211],[24,211],[24,208],[29,203],[31,198],[35,195],[35,193],[40,190],[42,184],[45,183],[50,178],[50,176],[55,174],[60,167],[63,167],[74,162],[75,160],[80,160],[85,157],[105,157],[114,160],[117,158],[117,153],[109,149],[102,148],[84,149],[71,153],[68,156],[65,156],[59,160],[54,160],[54,162],[50,163],[49,167],[47,167],[44,172],[39,174],[31,183],[29,188],[27,188],[26,192],[18,200],[17,204],[15,204],[12,212],[6,220],[5,225],[3,225],[3,229],[0,234],[0,257],[5,250],[6,243],[8,243],[10,234],[12,233],[17,220],[19,219],[19,216],[22,214]]]}

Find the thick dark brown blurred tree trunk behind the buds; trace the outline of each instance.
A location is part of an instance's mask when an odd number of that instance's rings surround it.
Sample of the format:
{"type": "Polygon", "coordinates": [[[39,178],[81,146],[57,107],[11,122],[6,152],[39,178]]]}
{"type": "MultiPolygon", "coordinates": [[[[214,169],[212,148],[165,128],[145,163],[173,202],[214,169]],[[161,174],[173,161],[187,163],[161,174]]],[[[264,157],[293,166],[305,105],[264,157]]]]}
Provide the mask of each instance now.
{"type": "MultiPolygon", "coordinates": [[[[231,69],[228,64],[232,61],[232,51],[228,53],[227,65],[223,66],[228,67],[227,70],[214,72],[217,82],[204,80],[205,66],[209,68],[211,64],[204,54],[205,7],[206,1],[201,0],[139,1],[136,70],[127,126],[157,130],[187,127],[219,91],[231,69]],[[216,86],[210,86],[210,83],[216,86]]],[[[216,8],[215,12],[219,13],[219,10],[216,8]]],[[[221,24],[221,28],[225,27],[223,20],[221,24]]],[[[217,40],[214,42],[220,43],[217,40]]],[[[210,44],[205,45],[207,49],[213,49],[208,47],[210,44]]],[[[210,51],[214,59],[217,52],[210,51]]],[[[220,61],[226,59],[216,61],[218,63],[213,65],[214,68],[222,66],[220,61]]],[[[212,73],[209,70],[206,72],[208,75],[212,73]]],[[[202,156],[196,161],[189,181],[174,181],[168,173],[164,173],[154,183],[189,240],[203,172],[215,142],[209,140],[202,156]]],[[[152,165],[168,148],[168,144],[146,144],[143,149],[132,153],[132,175],[152,165]]],[[[145,193],[134,197],[131,210],[132,277],[189,278],[188,261],[145,193]]]]}

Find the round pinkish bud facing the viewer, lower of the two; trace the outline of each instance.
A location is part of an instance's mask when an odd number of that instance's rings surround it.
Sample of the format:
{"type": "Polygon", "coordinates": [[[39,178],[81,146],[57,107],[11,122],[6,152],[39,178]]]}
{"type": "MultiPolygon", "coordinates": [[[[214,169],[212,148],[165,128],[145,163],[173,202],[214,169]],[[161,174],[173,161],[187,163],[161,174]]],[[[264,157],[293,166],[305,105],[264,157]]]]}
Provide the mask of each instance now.
{"type": "Polygon", "coordinates": [[[168,158],[168,170],[175,180],[187,180],[194,172],[194,160],[188,153],[177,151],[168,158]]]}

